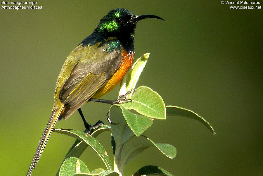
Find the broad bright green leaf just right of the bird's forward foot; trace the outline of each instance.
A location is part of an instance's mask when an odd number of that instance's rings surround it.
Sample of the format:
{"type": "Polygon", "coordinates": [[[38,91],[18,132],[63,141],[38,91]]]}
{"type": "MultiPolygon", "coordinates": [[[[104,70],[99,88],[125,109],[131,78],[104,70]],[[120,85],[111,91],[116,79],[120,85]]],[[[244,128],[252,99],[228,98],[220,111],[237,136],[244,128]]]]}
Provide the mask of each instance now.
{"type": "Polygon", "coordinates": [[[135,110],[146,117],[165,119],[165,104],[162,97],[146,86],[140,86],[131,96],[132,102],[121,103],[127,110],[135,110]]]}

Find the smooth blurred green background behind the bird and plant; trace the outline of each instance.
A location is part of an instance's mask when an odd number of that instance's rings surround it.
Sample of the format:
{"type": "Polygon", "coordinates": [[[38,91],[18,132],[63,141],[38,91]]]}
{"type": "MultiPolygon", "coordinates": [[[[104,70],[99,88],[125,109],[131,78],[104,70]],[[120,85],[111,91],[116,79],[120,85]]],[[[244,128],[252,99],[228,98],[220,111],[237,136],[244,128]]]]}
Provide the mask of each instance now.
{"type": "MultiPolygon", "coordinates": [[[[263,2],[262,2],[263,3],[263,2]]],[[[2,6],[2,4],[1,4],[2,6]]],[[[25,175],[53,106],[56,80],[68,54],[115,8],[166,22],[138,23],[135,58],[150,52],[139,85],[166,105],[191,109],[217,132],[182,117],[155,120],[144,135],[177,148],[168,159],[145,150],[126,167],[132,175],[157,165],[173,175],[262,175],[262,9],[231,10],[221,1],[40,1],[38,10],[0,9],[1,175],[25,175]]],[[[103,98],[117,98],[118,88],[103,98]]],[[[88,103],[88,122],[107,122],[110,105],[88,103]]],[[[106,123],[108,124],[108,122],[106,123]]],[[[84,130],[78,113],[56,128],[84,130]]],[[[110,133],[98,137],[112,157],[110,133]]],[[[55,175],[73,138],[52,133],[35,175],[55,175]]],[[[91,149],[90,170],[103,167],[91,149]]]]}

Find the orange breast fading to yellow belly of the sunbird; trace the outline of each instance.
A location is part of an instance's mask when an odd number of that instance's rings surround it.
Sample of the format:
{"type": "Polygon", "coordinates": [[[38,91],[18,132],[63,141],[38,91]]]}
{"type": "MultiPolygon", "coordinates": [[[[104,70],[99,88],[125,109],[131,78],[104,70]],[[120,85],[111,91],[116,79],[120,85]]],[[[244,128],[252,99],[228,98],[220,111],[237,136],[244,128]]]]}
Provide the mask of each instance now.
{"type": "Polygon", "coordinates": [[[109,91],[114,89],[120,81],[124,78],[124,75],[127,73],[134,59],[134,52],[122,52],[122,63],[120,68],[113,74],[113,76],[108,80],[108,82],[98,89],[98,91],[91,98],[100,98],[101,96],[107,94],[109,91]]]}

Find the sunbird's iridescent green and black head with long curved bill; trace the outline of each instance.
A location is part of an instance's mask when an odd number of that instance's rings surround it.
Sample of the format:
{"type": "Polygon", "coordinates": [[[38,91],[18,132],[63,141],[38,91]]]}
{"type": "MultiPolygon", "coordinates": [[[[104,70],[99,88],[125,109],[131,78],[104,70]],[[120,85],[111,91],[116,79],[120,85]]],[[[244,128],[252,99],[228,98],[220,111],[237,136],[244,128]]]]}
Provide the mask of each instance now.
{"type": "Polygon", "coordinates": [[[155,15],[136,16],[127,9],[117,8],[111,10],[100,20],[95,31],[103,37],[117,37],[119,40],[129,39],[133,42],[137,22],[145,18],[164,20],[155,15]]]}

